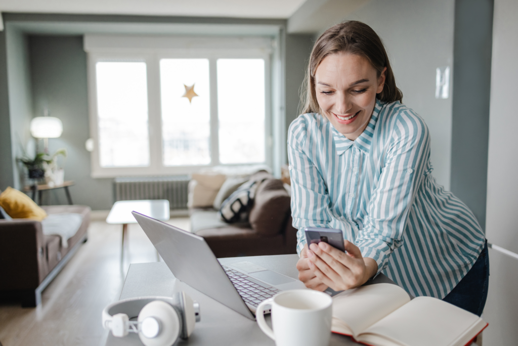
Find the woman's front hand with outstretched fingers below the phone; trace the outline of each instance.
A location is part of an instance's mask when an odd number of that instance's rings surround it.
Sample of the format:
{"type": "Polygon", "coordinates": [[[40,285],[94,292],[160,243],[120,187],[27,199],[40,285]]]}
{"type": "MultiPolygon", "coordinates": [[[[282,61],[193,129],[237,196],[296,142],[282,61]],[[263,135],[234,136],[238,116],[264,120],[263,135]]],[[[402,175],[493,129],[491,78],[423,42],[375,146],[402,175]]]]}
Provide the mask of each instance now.
{"type": "MultiPolygon", "coordinates": [[[[376,274],[378,264],[374,259],[362,257],[358,247],[348,240],[344,240],[343,244],[347,252],[335,249],[323,241],[311,244],[305,255],[308,258],[309,271],[316,277],[311,279],[312,282],[319,282],[320,285],[329,286],[335,291],[343,291],[363,285],[376,274]]],[[[310,287],[307,284],[306,286],[310,287]]]]}

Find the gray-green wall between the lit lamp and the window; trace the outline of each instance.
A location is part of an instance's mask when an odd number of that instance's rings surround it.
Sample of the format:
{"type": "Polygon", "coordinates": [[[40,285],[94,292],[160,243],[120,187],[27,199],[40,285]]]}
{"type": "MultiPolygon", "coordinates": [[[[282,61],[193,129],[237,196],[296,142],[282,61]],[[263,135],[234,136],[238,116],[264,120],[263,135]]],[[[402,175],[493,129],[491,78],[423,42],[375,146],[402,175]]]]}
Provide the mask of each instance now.
{"type": "MultiPolygon", "coordinates": [[[[61,119],[63,134],[49,139],[49,152],[66,148],[65,180],[75,204],[92,209],[110,209],[113,203],[112,180],[90,177],[90,153],[84,142],[90,137],[88,116],[87,55],[81,36],[30,36],[34,114],[61,119]]],[[[62,190],[52,191],[46,203],[66,204],[62,190]]]]}

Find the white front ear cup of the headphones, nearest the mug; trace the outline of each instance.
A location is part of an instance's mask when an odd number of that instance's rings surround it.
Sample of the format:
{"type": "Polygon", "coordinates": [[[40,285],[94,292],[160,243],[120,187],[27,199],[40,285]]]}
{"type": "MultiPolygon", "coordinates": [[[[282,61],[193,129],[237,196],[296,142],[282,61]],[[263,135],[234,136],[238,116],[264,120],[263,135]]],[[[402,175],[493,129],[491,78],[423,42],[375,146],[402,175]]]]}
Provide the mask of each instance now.
{"type": "Polygon", "coordinates": [[[159,322],[159,333],[154,338],[147,338],[139,330],[140,341],[146,346],[171,346],[181,333],[180,316],[170,304],[162,300],[155,300],[147,304],[138,314],[139,325],[147,318],[154,318],[159,322]]]}

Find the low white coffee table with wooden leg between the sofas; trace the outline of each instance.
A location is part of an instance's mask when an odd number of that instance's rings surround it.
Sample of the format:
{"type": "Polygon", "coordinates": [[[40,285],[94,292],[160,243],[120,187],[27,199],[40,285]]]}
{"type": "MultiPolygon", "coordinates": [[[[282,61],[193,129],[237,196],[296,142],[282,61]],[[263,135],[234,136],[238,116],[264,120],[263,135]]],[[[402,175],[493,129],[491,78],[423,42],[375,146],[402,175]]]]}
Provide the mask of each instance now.
{"type": "Polygon", "coordinates": [[[121,262],[124,260],[124,249],[128,246],[128,224],[137,223],[132,211],[160,221],[167,221],[170,217],[167,199],[120,200],[113,204],[106,222],[122,224],[121,262]]]}

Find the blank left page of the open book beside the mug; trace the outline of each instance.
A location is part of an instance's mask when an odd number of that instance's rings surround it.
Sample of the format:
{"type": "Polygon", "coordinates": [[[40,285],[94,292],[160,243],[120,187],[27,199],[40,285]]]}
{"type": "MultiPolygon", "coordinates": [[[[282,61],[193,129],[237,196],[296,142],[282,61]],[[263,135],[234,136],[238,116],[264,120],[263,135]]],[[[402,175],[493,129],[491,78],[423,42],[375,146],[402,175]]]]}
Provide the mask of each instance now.
{"type": "Polygon", "coordinates": [[[398,285],[379,283],[344,291],[333,297],[335,333],[356,337],[370,325],[410,301],[408,293],[398,285]],[[347,329],[349,327],[350,333],[347,329]]]}

